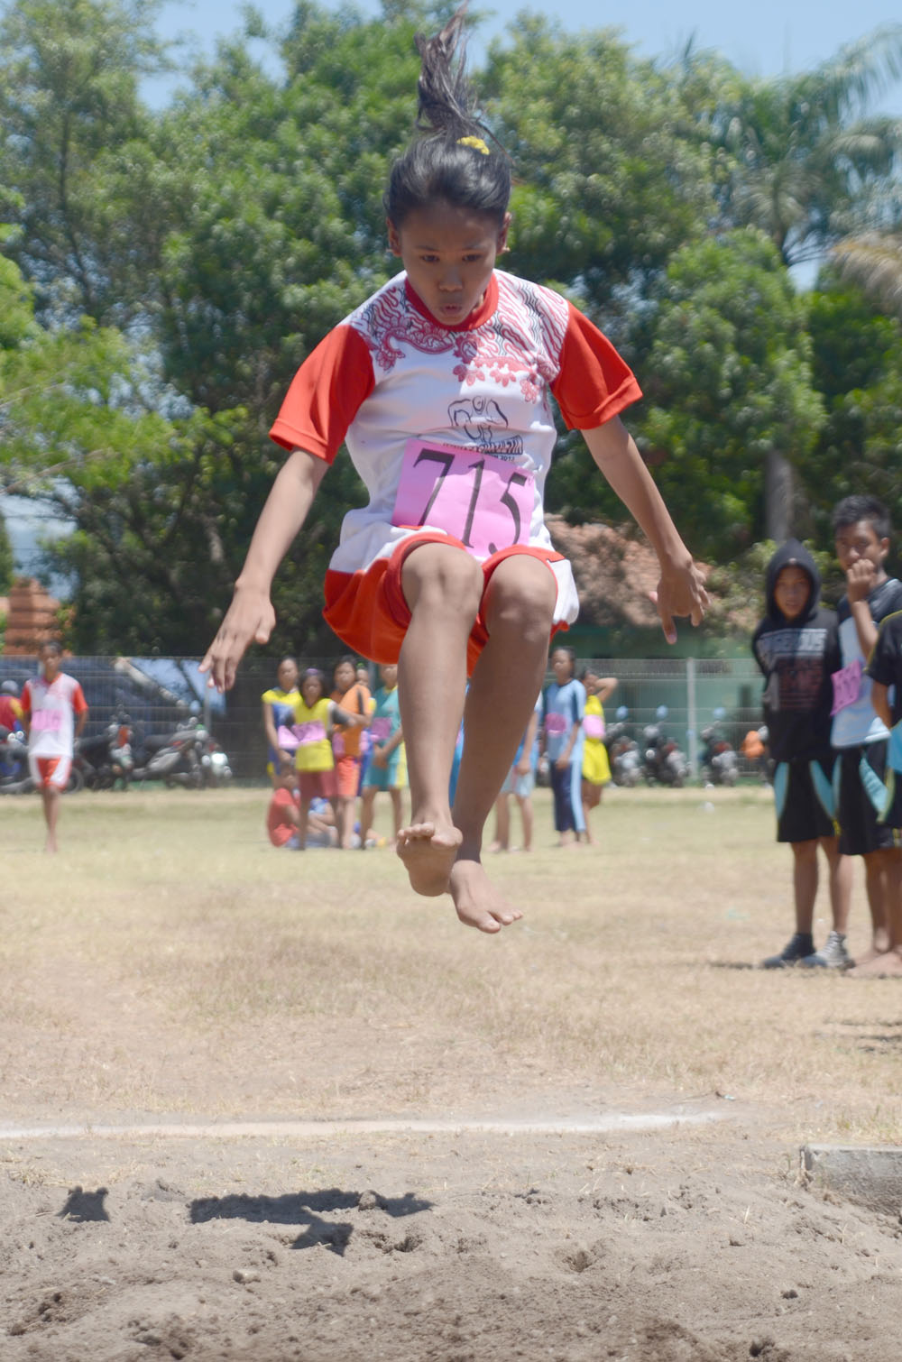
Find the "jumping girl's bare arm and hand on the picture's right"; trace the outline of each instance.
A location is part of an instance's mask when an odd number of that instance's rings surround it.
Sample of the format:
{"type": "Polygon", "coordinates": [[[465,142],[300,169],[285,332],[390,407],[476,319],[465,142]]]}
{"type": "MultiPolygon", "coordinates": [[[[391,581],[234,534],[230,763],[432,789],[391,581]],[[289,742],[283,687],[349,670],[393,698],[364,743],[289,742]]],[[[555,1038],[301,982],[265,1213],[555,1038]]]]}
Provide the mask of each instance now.
{"type": "Polygon", "coordinates": [[[707,605],[702,573],[677,534],[654,478],[620,417],[582,434],[593,459],[658,556],[661,580],[655,605],[668,643],[676,643],[674,616],[688,616],[692,624],[702,622],[707,605]]]}

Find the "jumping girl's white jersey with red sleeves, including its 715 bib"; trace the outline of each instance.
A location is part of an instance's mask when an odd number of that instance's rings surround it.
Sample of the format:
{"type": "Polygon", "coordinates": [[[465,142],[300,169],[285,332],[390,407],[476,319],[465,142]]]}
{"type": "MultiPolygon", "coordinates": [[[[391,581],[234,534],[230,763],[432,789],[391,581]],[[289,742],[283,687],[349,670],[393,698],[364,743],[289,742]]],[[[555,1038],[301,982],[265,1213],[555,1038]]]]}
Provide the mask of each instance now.
{"type": "MultiPolygon", "coordinates": [[[[642,392],[606,336],[550,289],[496,270],[480,306],[446,327],[399,274],[312,351],[270,434],[330,463],[345,441],[367,486],[331,571],[365,569],[421,528],[454,534],[484,561],[512,543],[553,548],[542,509],[550,396],[571,429],[589,430],[642,392]],[[443,469],[455,475],[448,496],[443,469]],[[426,473],[436,482],[424,494],[426,473]]],[[[556,575],[556,616],[570,621],[570,565],[556,575]]]]}

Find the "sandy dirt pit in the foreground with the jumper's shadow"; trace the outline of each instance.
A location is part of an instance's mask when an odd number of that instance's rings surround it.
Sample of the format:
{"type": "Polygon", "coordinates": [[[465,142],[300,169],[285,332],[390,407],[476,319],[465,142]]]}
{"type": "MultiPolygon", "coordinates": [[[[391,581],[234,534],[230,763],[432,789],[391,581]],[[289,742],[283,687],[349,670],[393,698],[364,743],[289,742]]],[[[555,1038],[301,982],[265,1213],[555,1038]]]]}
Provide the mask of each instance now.
{"type": "Polygon", "coordinates": [[[5,1362],[887,1362],[902,1325],[898,1215],[805,1188],[749,1113],[3,1159],[5,1362]]]}

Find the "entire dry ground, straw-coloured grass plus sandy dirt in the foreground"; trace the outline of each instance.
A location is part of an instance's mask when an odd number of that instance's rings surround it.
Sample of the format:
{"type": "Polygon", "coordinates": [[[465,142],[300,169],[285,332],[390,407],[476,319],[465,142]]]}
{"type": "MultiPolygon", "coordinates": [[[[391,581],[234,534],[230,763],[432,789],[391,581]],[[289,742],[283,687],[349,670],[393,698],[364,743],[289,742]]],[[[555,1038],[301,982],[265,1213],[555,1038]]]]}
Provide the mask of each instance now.
{"type": "MultiPolygon", "coordinates": [[[[899,1224],[796,1156],[902,1143],[902,998],[753,968],[792,930],[767,791],[616,790],[564,851],[540,791],[497,937],[264,806],[82,794],[48,858],[0,801],[4,1362],[897,1355],[899,1224]],[[711,1120],[575,1129],[615,1113],[711,1120]],[[392,1118],[455,1129],[356,1132],[392,1118]],[[342,1129],[140,1129],[274,1120],[342,1129]]],[[[858,874],[853,953],[867,918],[858,874]]]]}

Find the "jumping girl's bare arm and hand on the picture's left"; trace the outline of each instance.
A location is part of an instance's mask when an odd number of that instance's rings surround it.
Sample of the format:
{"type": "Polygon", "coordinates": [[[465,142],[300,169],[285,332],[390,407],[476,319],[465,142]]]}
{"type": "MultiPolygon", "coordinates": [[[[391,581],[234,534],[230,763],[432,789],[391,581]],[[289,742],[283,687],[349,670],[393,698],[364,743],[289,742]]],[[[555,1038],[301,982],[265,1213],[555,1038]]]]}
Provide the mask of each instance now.
{"type": "Polygon", "coordinates": [[[248,556],[234,584],[232,605],[200,663],[217,691],[228,691],[251,643],[266,643],[275,624],[270,588],[313,503],[328,464],[294,449],[282,464],[256,523],[248,556]]]}

